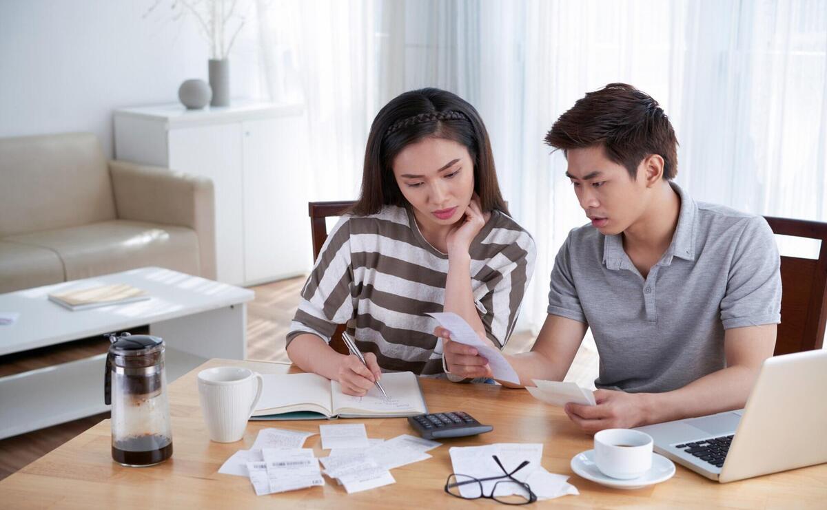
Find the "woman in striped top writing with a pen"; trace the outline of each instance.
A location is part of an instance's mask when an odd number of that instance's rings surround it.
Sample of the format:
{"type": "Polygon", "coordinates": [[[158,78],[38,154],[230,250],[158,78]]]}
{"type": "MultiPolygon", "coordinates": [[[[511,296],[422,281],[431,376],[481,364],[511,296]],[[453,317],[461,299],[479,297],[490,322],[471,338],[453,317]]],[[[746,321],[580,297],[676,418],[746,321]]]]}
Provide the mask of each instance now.
{"type": "Polygon", "coordinates": [[[442,359],[427,313],[459,314],[502,348],[534,256],[533,239],[508,216],[474,107],[436,88],[405,92],[370,127],[361,197],[302,290],[288,356],[347,394],[366,394],[382,370],[444,377],[452,360],[442,359]],[[340,323],[367,367],[327,345],[340,323]]]}

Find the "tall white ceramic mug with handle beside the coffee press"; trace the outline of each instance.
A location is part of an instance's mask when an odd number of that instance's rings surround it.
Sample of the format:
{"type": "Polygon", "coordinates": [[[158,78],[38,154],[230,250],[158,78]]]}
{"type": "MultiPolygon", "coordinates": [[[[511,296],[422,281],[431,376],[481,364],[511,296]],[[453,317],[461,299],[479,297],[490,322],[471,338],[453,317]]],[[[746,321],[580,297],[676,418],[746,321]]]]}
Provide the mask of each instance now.
{"type": "Polygon", "coordinates": [[[198,397],[215,442],[237,442],[261,399],[264,378],[241,366],[217,366],[198,372],[198,397]]]}

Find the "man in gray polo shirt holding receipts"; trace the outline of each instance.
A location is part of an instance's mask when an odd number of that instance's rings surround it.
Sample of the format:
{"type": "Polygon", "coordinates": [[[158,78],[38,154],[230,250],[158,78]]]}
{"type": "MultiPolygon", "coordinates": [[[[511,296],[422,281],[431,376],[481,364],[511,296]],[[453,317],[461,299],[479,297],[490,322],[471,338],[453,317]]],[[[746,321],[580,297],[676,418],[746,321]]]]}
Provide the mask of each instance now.
{"type": "MultiPolygon", "coordinates": [[[[767,222],[696,202],[672,182],[672,125],[629,85],[587,93],[546,142],[566,155],[591,223],[573,229],[557,254],[532,351],[508,357],[522,385],[562,380],[591,328],[597,405],[566,404],[586,432],[743,407],[781,320],[767,222]]],[[[491,375],[472,347],[446,341],[444,357],[454,375],[491,375]]]]}

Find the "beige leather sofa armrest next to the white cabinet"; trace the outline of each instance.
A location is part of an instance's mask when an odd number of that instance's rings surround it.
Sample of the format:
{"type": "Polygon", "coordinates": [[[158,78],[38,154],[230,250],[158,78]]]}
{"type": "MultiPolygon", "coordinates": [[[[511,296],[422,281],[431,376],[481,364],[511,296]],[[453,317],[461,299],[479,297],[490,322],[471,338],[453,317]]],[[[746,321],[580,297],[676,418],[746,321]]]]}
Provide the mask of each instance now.
{"type": "Polygon", "coordinates": [[[201,275],[215,279],[213,181],[169,168],[109,161],[115,209],[120,220],[189,227],[198,236],[201,275]]]}

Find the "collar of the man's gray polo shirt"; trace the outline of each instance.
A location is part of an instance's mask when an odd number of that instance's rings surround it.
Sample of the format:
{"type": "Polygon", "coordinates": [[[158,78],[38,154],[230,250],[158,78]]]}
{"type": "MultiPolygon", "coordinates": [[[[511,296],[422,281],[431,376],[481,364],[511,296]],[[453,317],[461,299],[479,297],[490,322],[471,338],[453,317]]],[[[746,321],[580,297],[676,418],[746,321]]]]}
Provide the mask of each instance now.
{"type": "MultiPolygon", "coordinates": [[[[667,253],[664,254],[663,262],[672,263],[672,257],[682,258],[684,260],[695,260],[695,238],[697,234],[696,218],[698,212],[698,205],[689,196],[689,193],[683,190],[675,182],[670,181],[669,185],[672,189],[681,196],[681,210],[677,216],[677,227],[675,234],[672,236],[672,243],[667,248],[667,253]]],[[[622,234],[605,235],[603,243],[603,263],[607,269],[630,269],[629,257],[623,249],[622,234]]]]}

